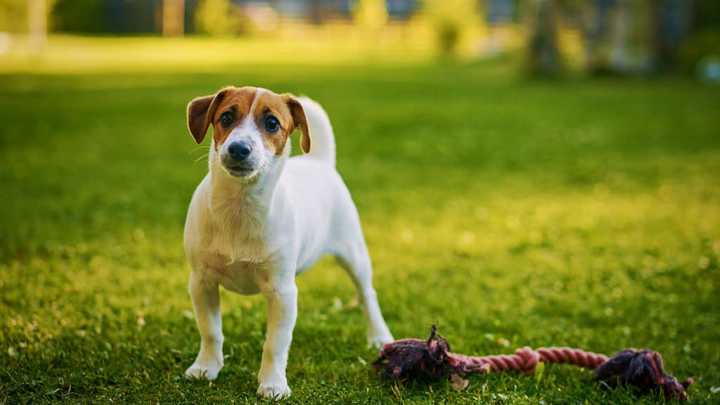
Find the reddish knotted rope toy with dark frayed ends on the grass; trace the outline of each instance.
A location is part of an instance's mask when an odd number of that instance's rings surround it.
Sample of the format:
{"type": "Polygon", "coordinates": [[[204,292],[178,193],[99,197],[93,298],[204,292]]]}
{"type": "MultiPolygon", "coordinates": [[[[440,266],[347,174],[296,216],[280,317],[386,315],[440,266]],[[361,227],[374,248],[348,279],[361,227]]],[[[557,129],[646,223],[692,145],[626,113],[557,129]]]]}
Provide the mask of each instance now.
{"type": "Polygon", "coordinates": [[[594,381],[602,381],[613,388],[618,384],[634,386],[640,395],[662,388],[669,400],[688,399],[686,390],[693,383],[692,378],[678,382],[677,378],[665,374],[660,353],[647,349],[626,349],[611,358],[570,347],[532,350],[527,346],[516,350],[514,355],[459,355],[450,352],[450,345],[437,333],[436,325],[432,326],[427,340],[400,339],[384,344],[372,365],[385,379],[437,380],[449,376],[455,381],[465,374],[490,373],[492,370],[530,375],[539,362],[567,363],[595,370],[594,381]]]}

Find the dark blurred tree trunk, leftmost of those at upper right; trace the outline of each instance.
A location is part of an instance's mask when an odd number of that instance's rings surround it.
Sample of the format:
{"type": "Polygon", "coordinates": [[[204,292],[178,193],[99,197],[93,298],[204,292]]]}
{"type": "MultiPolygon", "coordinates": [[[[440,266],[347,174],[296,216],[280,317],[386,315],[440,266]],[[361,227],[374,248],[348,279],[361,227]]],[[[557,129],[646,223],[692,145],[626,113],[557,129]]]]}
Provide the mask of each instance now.
{"type": "Polygon", "coordinates": [[[528,13],[528,70],[531,74],[557,74],[560,71],[557,0],[528,0],[528,13]]]}

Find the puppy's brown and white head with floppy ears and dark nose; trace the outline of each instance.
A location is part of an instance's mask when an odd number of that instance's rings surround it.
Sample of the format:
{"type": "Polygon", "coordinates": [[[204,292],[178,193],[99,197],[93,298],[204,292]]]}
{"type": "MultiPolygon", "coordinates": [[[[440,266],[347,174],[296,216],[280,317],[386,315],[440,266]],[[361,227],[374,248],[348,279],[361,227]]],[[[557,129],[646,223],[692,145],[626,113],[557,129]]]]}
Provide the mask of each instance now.
{"type": "Polygon", "coordinates": [[[255,177],[268,168],[273,156],[282,156],[288,136],[297,128],[302,130],[302,151],[310,151],[305,112],[290,94],[226,87],[193,99],[187,106],[187,123],[198,144],[212,125],[217,159],[234,177],[255,177]]]}

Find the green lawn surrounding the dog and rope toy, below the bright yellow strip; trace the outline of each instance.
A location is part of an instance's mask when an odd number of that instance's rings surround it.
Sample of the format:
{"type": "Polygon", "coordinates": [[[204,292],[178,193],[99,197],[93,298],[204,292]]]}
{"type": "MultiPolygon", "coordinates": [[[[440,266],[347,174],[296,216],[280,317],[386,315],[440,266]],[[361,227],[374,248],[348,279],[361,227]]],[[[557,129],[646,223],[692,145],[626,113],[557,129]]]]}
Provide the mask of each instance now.
{"type": "MultiPolygon", "coordinates": [[[[511,71],[376,61],[0,75],[0,403],[258,401],[261,297],[223,292],[225,368],[212,384],[181,375],[199,347],[182,228],[207,170],[185,104],[227,84],[305,93],[328,111],[395,337],[426,337],[437,321],[467,354],[652,347],[696,378],[694,404],[717,403],[717,88],[511,71]]],[[[287,403],[636,403],[562,365],[472,377],[462,392],[384,383],[348,277],[323,260],[297,283],[287,403]]]]}

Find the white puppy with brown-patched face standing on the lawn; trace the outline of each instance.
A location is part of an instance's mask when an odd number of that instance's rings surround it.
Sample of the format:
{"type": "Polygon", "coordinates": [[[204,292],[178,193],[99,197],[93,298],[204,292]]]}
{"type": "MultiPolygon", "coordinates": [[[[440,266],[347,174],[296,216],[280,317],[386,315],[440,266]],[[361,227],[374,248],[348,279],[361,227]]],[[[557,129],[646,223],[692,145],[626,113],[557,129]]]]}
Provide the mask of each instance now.
{"type": "Polygon", "coordinates": [[[372,265],[350,192],[335,169],[335,139],[320,104],[256,87],[227,87],[193,99],[190,133],[212,125],[207,176],[195,190],[184,231],[189,292],[200,350],[186,375],[214,380],[223,365],[220,291],[262,293],[267,336],[258,395],[290,395],[285,369],[297,319],[295,275],[325,254],[351,276],[368,343],[392,342],[372,286],[372,265]],[[300,128],[302,156],[290,156],[300,128]]]}

